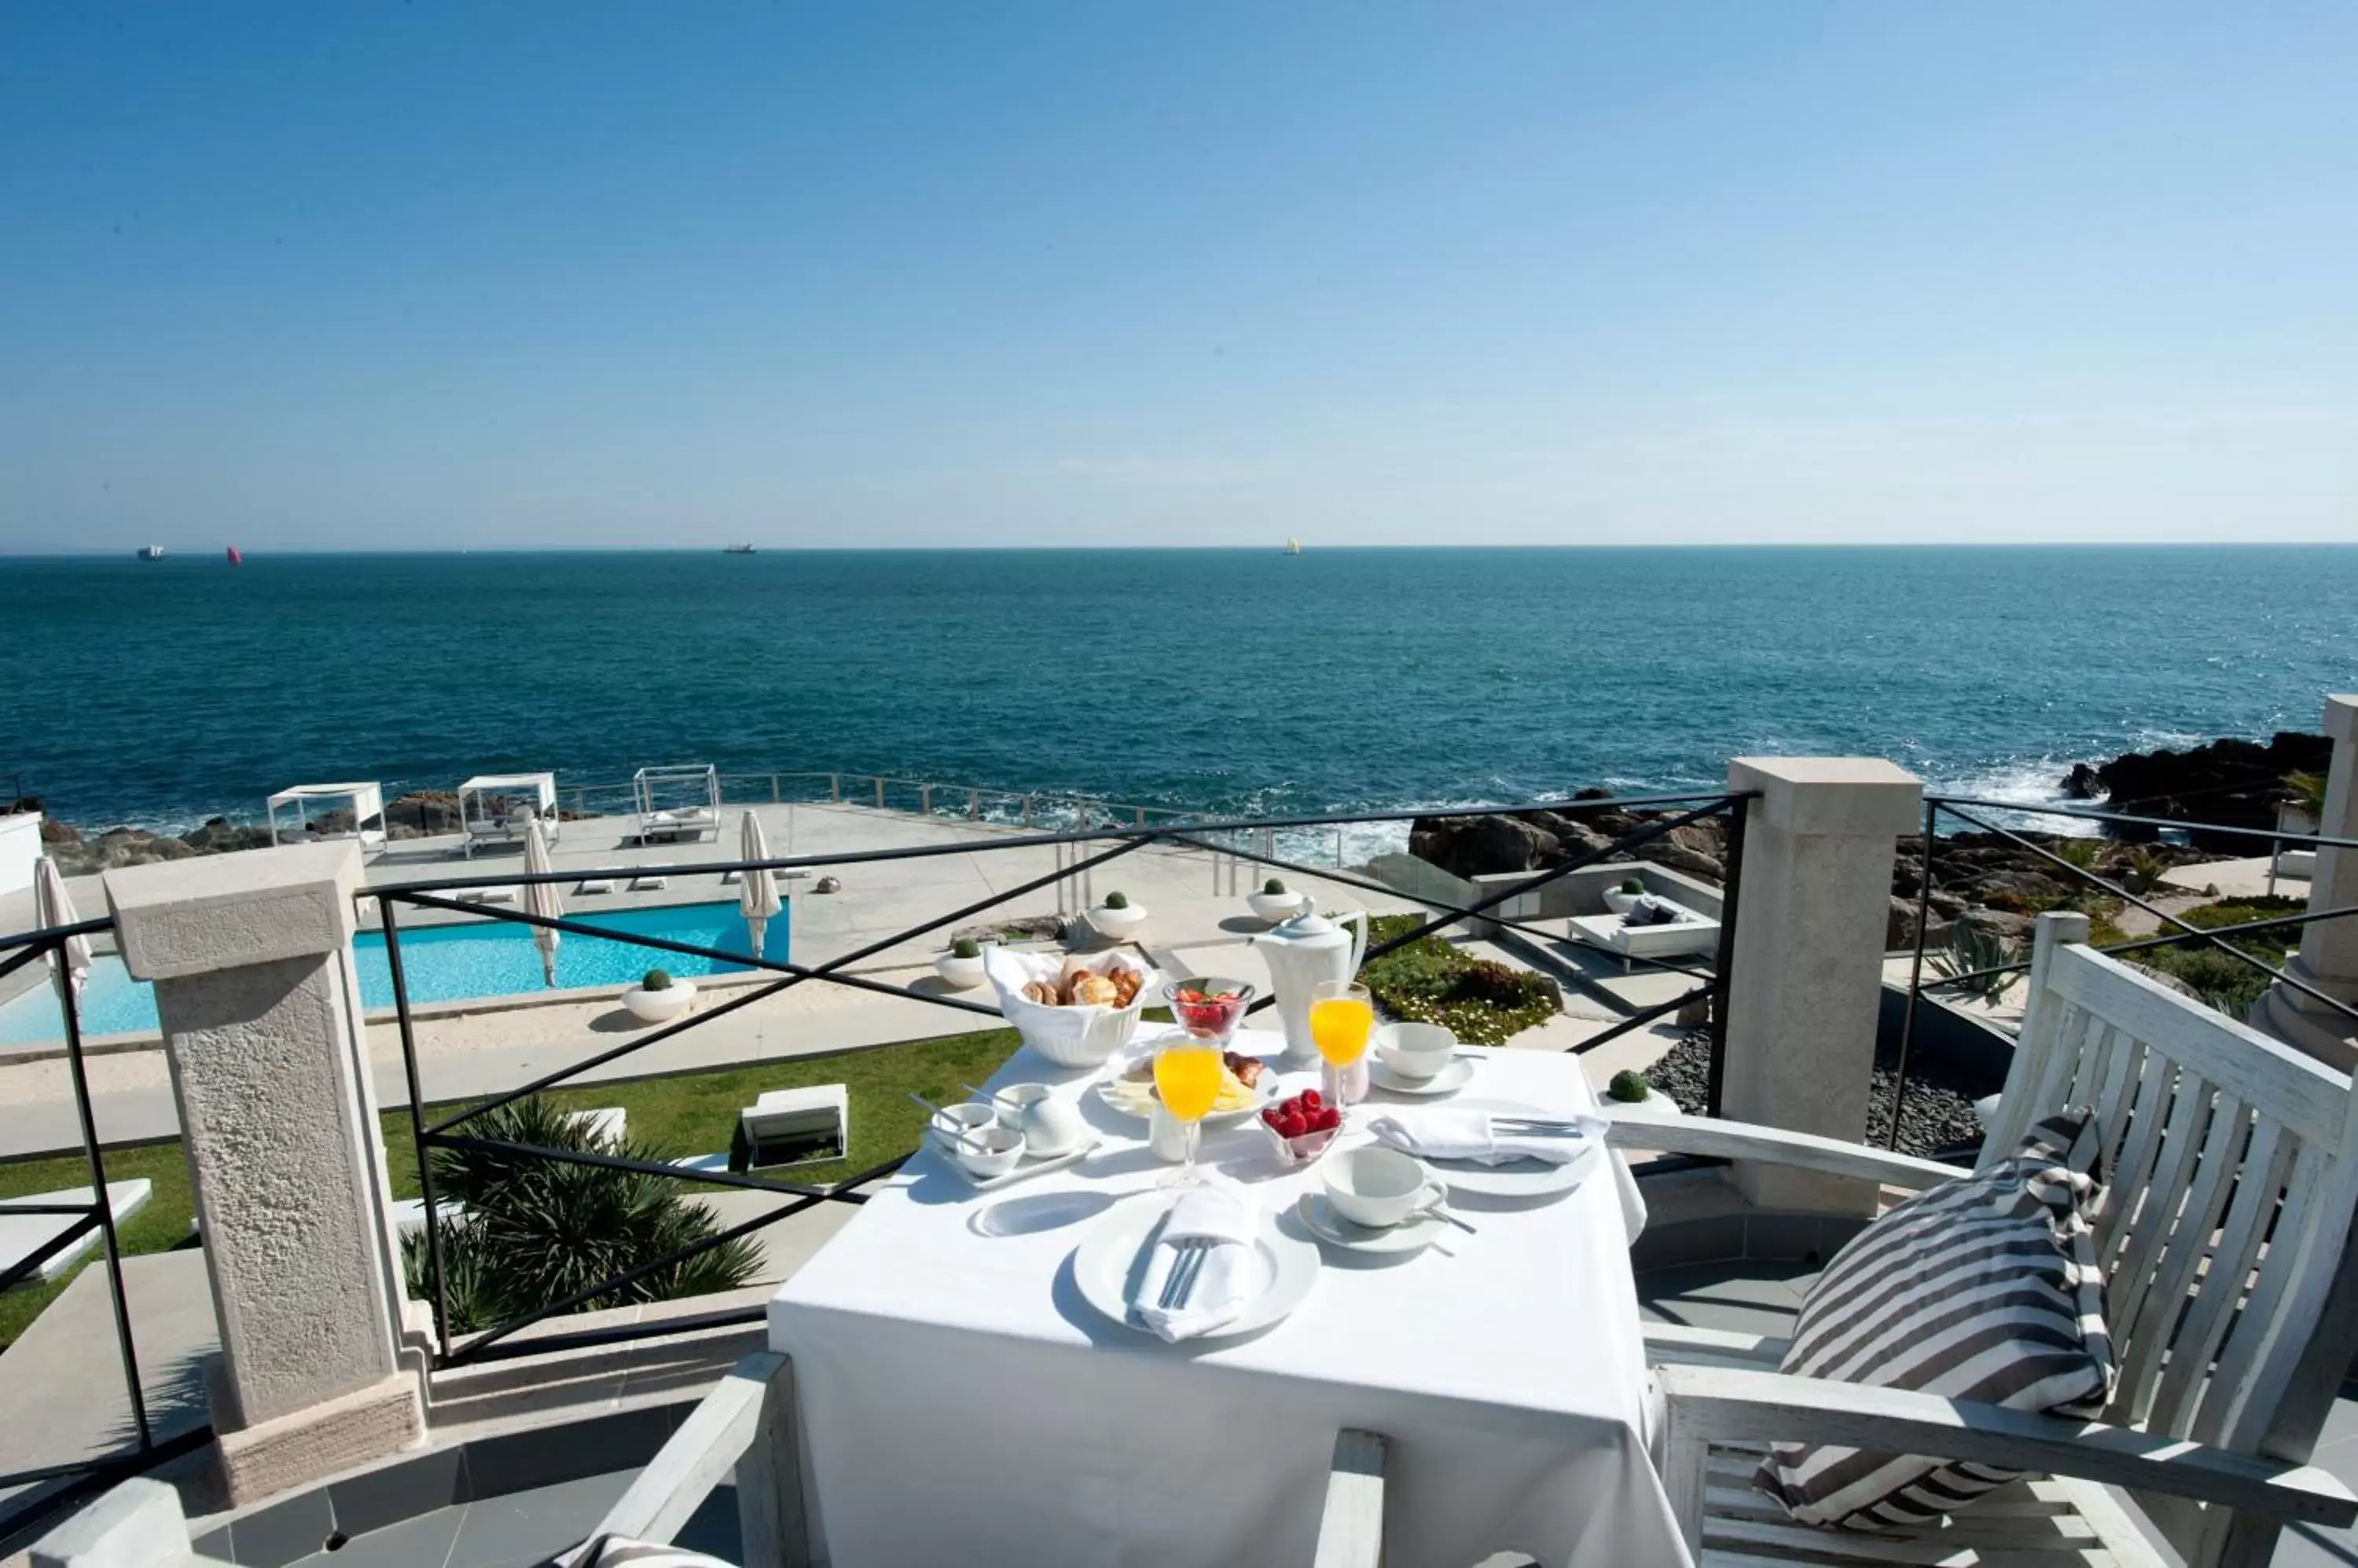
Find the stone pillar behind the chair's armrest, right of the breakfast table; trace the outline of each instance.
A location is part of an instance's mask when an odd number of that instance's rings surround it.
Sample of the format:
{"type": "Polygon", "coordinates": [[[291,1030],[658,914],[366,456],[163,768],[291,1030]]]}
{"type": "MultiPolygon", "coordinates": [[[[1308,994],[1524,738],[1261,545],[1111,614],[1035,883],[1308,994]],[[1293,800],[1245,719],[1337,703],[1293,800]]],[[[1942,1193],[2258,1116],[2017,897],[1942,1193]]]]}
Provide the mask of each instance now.
{"type": "MultiPolygon", "coordinates": [[[[1858,1141],[1875,1073],[1875,1016],[1891,920],[1891,858],[1924,828],[1924,785],[1872,757],[1738,757],[1757,790],[1728,974],[1721,1113],[1858,1141]]],[[[1764,1210],[1865,1214],[1865,1181],[1738,1162],[1764,1210]]]]}

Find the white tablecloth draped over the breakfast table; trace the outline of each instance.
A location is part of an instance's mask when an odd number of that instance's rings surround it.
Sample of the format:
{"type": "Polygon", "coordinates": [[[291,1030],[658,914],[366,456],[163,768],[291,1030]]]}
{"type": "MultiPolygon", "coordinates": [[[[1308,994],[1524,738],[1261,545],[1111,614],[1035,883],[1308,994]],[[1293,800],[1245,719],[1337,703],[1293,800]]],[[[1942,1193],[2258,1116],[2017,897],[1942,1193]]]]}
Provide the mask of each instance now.
{"type": "MultiPolygon", "coordinates": [[[[1073,1285],[1089,1224],[1170,1170],[1144,1122],[1082,1099],[1092,1078],[1019,1052],[993,1080],[1075,1096],[1108,1134],[1089,1160],[974,1193],[920,1153],[771,1299],[835,1568],[1306,1568],[1342,1427],[1391,1443],[1391,1568],[1500,1549],[1688,1563],[1648,1462],[1611,1162],[1537,1207],[1462,1200],[1478,1233],[1408,1259],[1328,1247],[1309,1299],[1269,1332],[1165,1346],[1073,1285]]],[[[1580,1063],[1540,1052],[1483,1054],[1464,1094],[1592,1103],[1580,1063]]],[[[1207,1129],[1203,1155],[1271,1210],[1318,1184],[1316,1165],[1278,1170],[1252,1127],[1207,1129]]]]}

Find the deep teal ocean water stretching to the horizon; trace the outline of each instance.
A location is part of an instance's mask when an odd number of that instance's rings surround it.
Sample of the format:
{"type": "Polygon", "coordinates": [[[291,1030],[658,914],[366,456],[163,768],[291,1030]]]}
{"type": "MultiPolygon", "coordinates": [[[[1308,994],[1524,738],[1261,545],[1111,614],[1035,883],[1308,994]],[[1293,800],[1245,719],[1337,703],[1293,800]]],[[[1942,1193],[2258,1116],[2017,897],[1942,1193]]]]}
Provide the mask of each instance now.
{"type": "Polygon", "coordinates": [[[2316,729],[2353,620],[2358,547],[0,559],[0,788],[189,825],[712,762],[1278,813],[1870,752],[2042,799],[2316,729]]]}

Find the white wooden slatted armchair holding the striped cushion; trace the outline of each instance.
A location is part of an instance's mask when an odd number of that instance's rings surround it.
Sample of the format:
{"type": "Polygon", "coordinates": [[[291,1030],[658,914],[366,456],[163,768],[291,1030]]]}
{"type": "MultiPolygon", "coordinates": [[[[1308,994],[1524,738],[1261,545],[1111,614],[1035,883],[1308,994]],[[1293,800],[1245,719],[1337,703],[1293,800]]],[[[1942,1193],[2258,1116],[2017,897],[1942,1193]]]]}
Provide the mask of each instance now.
{"type": "MultiPolygon", "coordinates": [[[[1785,1344],[1648,1327],[1669,1410],[1665,1481],[1705,1568],[1771,1563],[2122,1563],[2261,1568],[2285,1521],[2346,1526],[2358,1500],[2308,1469],[2358,1349],[2358,1099],[2351,1080],[2094,953],[2042,915],[2030,1002],[1988,1139],[2096,1106],[2099,1219],[2120,1391],[2106,1424],[1776,1372],[1785,1344]],[[1677,1365],[1684,1363],[1684,1365],[1677,1365]],[[1924,1530],[1820,1530],[1752,1490],[1766,1443],[1922,1452],[2018,1481],[1924,1530]]],[[[1952,1167],[1702,1118],[1632,1122],[1634,1148],[1778,1160],[1917,1191],[1952,1167]]]]}

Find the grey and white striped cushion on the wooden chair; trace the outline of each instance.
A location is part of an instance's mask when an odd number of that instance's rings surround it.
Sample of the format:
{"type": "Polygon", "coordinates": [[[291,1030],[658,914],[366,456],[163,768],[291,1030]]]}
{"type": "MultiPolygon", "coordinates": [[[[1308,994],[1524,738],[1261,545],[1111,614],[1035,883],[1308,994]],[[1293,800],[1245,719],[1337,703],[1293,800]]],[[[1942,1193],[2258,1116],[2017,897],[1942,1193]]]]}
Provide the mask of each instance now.
{"type": "MultiPolygon", "coordinates": [[[[2018,1151],[1917,1193],[1851,1238],[1802,1302],[1785,1372],[2094,1417],[2113,1394],[2094,1115],[2033,1127],[2018,1151]]],[[[1802,1523],[1931,1523],[2018,1471],[1924,1455],[1780,1443],[1754,1485],[1802,1523]]]]}

